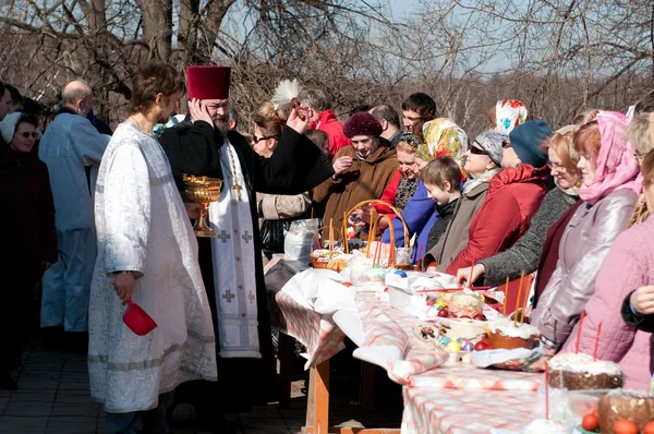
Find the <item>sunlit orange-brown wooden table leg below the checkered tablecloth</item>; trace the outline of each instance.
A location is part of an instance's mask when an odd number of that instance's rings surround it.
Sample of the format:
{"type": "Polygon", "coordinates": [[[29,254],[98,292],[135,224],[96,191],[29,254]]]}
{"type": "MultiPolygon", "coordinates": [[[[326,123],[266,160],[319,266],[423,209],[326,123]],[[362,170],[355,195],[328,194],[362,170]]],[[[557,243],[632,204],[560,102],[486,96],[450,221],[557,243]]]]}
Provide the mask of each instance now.
{"type": "MultiPolygon", "coordinates": [[[[311,369],[306,403],[306,426],[315,434],[329,429],[329,360],[311,369]]],[[[308,431],[308,430],[307,430],[308,431]]]]}

